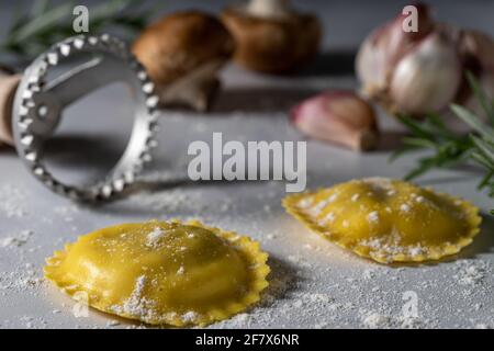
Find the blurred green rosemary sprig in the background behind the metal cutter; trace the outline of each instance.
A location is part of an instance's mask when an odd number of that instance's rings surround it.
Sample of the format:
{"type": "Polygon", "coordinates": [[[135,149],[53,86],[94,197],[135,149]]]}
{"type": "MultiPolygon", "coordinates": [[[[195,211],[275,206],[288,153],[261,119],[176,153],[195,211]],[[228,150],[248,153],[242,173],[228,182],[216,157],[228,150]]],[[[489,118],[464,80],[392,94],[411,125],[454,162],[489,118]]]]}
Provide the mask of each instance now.
{"type": "MultiPolygon", "coordinates": [[[[101,33],[119,29],[135,33],[149,21],[154,11],[145,11],[138,0],[109,0],[89,8],[89,30],[101,33]]],[[[10,54],[25,63],[44,52],[52,44],[74,35],[74,1],[52,5],[49,0],[34,1],[30,10],[14,11],[0,53],[10,54]]]]}

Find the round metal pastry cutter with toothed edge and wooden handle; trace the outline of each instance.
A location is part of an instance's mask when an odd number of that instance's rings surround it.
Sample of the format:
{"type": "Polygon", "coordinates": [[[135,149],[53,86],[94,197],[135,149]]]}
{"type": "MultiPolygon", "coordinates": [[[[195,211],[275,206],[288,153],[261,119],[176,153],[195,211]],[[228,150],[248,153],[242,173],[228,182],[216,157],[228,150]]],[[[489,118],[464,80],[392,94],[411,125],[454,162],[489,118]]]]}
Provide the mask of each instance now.
{"type": "Polygon", "coordinates": [[[67,38],[38,56],[23,76],[11,76],[3,84],[8,89],[0,89],[0,104],[12,106],[11,113],[3,113],[0,118],[0,138],[14,144],[32,174],[54,192],[76,201],[109,200],[131,185],[151,160],[151,150],[157,146],[158,97],[145,68],[122,41],[108,34],[67,38]],[[49,79],[48,72],[63,63],[88,56],[89,59],[49,79]],[[47,169],[44,148],[64,109],[116,81],[130,87],[135,106],[132,134],[120,160],[103,179],[93,183],[61,182],[47,169]]]}

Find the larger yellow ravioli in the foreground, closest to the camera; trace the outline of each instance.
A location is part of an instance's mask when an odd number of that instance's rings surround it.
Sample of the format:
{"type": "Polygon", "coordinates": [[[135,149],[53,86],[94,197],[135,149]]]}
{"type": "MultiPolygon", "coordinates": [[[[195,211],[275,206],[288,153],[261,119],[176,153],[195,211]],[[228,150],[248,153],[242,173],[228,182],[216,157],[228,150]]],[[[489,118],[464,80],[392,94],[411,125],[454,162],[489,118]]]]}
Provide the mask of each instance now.
{"type": "Polygon", "coordinates": [[[123,224],[81,236],[45,276],[99,310],[151,325],[204,326],[259,301],[268,254],[245,236],[188,223],[123,224]]]}

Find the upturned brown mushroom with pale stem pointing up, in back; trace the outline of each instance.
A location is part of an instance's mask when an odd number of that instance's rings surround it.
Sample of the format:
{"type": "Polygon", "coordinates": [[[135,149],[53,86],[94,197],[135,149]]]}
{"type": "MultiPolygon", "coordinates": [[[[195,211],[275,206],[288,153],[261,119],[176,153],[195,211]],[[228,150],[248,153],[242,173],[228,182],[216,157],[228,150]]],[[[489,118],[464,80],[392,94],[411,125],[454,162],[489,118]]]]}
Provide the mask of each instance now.
{"type": "Polygon", "coordinates": [[[317,18],[287,0],[250,0],[224,10],[222,19],[237,44],[235,61],[267,73],[296,70],[316,55],[322,37],[317,18]]]}

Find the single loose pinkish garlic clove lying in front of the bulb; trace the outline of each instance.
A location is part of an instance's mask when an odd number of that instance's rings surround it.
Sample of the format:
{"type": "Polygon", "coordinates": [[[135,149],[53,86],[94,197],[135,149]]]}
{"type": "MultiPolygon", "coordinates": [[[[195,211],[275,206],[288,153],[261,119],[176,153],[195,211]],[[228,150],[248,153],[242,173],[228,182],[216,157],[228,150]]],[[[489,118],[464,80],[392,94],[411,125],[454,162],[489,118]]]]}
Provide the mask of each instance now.
{"type": "Polygon", "coordinates": [[[291,112],[295,126],[304,134],[369,150],[378,144],[378,124],[372,106],[348,91],[333,91],[310,98],[291,112]]]}

